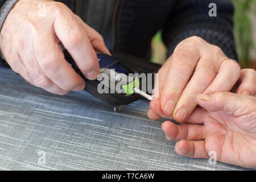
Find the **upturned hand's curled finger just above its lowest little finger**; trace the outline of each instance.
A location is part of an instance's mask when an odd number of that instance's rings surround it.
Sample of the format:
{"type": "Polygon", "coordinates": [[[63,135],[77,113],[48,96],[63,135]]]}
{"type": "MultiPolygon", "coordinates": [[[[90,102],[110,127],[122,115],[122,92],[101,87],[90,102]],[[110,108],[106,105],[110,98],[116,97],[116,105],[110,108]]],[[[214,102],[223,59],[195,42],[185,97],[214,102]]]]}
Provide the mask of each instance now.
{"type": "Polygon", "coordinates": [[[170,121],[162,124],[162,129],[168,140],[203,140],[204,128],[202,125],[182,123],[175,125],[170,121]]]}

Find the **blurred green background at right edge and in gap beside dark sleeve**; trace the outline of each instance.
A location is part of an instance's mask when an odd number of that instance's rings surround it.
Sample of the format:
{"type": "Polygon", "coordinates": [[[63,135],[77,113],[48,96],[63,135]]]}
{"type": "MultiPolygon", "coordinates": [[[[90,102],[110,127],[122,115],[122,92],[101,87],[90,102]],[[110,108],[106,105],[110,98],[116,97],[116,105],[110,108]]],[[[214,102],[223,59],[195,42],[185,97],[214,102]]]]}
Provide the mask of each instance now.
{"type": "MultiPolygon", "coordinates": [[[[236,9],[234,14],[234,35],[242,68],[256,69],[256,0],[232,0],[236,9]]],[[[164,63],[166,47],[158,32],[152,39],[152,58],[154,63],[164,63]]]]}

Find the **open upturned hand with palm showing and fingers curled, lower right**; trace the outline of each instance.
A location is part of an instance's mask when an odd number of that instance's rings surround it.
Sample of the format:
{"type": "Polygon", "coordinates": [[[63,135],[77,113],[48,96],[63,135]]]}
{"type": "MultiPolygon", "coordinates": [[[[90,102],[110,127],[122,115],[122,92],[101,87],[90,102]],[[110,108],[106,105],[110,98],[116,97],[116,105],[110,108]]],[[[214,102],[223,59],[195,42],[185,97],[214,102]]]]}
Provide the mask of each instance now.
{"type": "Polygon", "coordinates": [[[208,158],[214,151],[220,162],[256,169],[256,98],[220,92],[199,94],[196,101],[203,108],[184,123],[162,124],[168,140],[179,140],[177,154],[208,158]]]}

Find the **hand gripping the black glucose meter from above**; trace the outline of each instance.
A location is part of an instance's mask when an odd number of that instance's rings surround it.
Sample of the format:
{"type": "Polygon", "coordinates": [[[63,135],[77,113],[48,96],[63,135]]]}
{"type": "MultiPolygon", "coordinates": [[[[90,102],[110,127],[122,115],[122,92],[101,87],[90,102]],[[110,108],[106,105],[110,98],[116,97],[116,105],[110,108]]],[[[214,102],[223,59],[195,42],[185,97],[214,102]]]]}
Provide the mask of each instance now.
{"type": "Polygon", "coordinates": [[[60,43],[86,78],[97,78],[100,67],[94,49],[109,51],[102,36],[63,3],[19,0],[1,31],[1,51],[16,73],[48,92],[80,91],[85,82],[64,59],[60,43]]]}

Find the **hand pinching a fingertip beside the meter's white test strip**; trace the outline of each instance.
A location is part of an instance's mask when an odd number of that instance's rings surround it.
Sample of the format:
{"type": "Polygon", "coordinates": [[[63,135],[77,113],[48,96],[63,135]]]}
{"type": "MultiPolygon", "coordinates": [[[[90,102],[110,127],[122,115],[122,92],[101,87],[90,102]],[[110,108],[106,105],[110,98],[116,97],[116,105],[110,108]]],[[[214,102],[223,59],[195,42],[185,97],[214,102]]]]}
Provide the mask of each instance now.
{"type": "Polygon", "coordinates": [[[175,49],[159,70],[159,82],[148,117],[185,121],[195,109],[199,93],[230,91],[241,75],[240,65],[217,46],[193,36],[175,49]]]}

